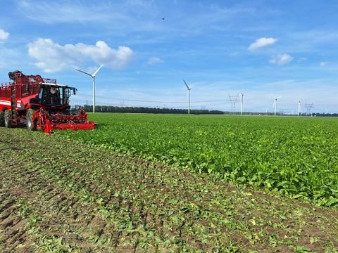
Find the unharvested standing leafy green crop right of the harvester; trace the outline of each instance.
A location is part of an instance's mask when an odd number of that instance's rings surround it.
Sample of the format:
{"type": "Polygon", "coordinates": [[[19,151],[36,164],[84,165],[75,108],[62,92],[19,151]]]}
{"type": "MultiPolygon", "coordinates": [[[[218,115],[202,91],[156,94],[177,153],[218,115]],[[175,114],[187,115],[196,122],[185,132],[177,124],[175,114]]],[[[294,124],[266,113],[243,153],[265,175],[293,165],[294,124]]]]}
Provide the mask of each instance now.
{"type": "Polygon", "coordinates": [[[96,114],[67,138],[338,207],[333,118],[96,114]]]}

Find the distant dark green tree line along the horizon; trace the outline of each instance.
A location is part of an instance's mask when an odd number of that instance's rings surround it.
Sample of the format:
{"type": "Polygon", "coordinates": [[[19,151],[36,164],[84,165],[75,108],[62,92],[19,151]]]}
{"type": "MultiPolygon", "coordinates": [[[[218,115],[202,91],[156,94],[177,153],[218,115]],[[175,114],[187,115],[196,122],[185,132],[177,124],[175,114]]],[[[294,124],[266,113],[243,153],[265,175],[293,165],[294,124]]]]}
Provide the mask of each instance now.
{"type": "MultiPolygon", "coordinates": [[[[75,105],[75,108],[83,108],[86,112],[92,112],[92,105],[75,105]]],[[[131,112],[131,113],[159,113],[159,114],[187,114],[187,109],[175,109],[175,108],[145,108],[145,107],[121,107],[112,105],[96,105],[96,112],[131,112]]],[[[223,112],[220,110],[190,110],[191,114],[194,115],[239,115],[240,112],[223,112]]],[[[243,112],[243,115],[273,115],[273,112],[243,112]]],[[[277,113],[280,116],[296,116],[287,113],[277,113]]],[[[306,115],[303,113],[301,116],[308,117],[338,117],[338,113],[311,113],[306,115]]]]}

